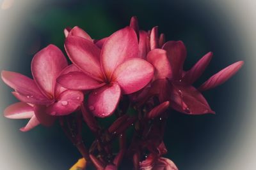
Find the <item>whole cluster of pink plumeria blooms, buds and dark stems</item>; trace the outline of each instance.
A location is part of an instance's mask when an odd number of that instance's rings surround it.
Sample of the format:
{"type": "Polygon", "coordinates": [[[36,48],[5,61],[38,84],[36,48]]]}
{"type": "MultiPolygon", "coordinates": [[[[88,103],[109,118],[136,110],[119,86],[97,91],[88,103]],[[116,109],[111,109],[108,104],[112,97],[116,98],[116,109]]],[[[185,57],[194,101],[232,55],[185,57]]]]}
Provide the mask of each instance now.
{"type": "Polygon", "coordinates": [[[170,111],[214,113],[202,92],[224,83],[243,65],[235,62],[195,88],[193,83],[204,73],[212,52],[184,71],[184,43],[165,42],[157,27],[140,30],[136,17],[128,27],[99,40],[79,27],[64,33],[72,64],[57,46],[49,45],[33,57],[33,79],[10,71],[2,71],[1,78],[20,101],[8,106],[4,116],[29,118],[22,132],[60,122],[83,156],[72,169],[118,169],[123,160],[132,162],[134,169],[177,169],[163,157],[170,111]],[[128,114],[129,110],[136,114],[128,114]],[[109,127],[100,125],[100,118],[111,115],[116,120],[109,127]],[[90,148],[83,142],[83,122],[95,136],[90,148]],[[133,137],[127,140],[129,128],[133,137]],[[113,150],[116,139],[118,151],[113,150]]]}

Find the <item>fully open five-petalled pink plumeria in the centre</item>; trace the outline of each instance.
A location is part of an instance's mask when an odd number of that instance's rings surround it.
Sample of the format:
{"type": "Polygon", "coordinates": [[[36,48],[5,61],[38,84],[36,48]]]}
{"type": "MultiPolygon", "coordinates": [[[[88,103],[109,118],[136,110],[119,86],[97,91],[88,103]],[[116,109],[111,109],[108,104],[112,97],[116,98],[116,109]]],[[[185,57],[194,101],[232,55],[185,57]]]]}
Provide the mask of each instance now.
{"type": "Polygon", "coordinates": [[[154,74],[154,67],[138,58],[138,40],[130,27],[109,36],[101,50],[79,36],[67,36],[65,49],[81,72],[63,74],[58,82],[67,89],[92,90],[88,106],[97,117],[111,115],[122,94],[142,89],[154,74]]]}

